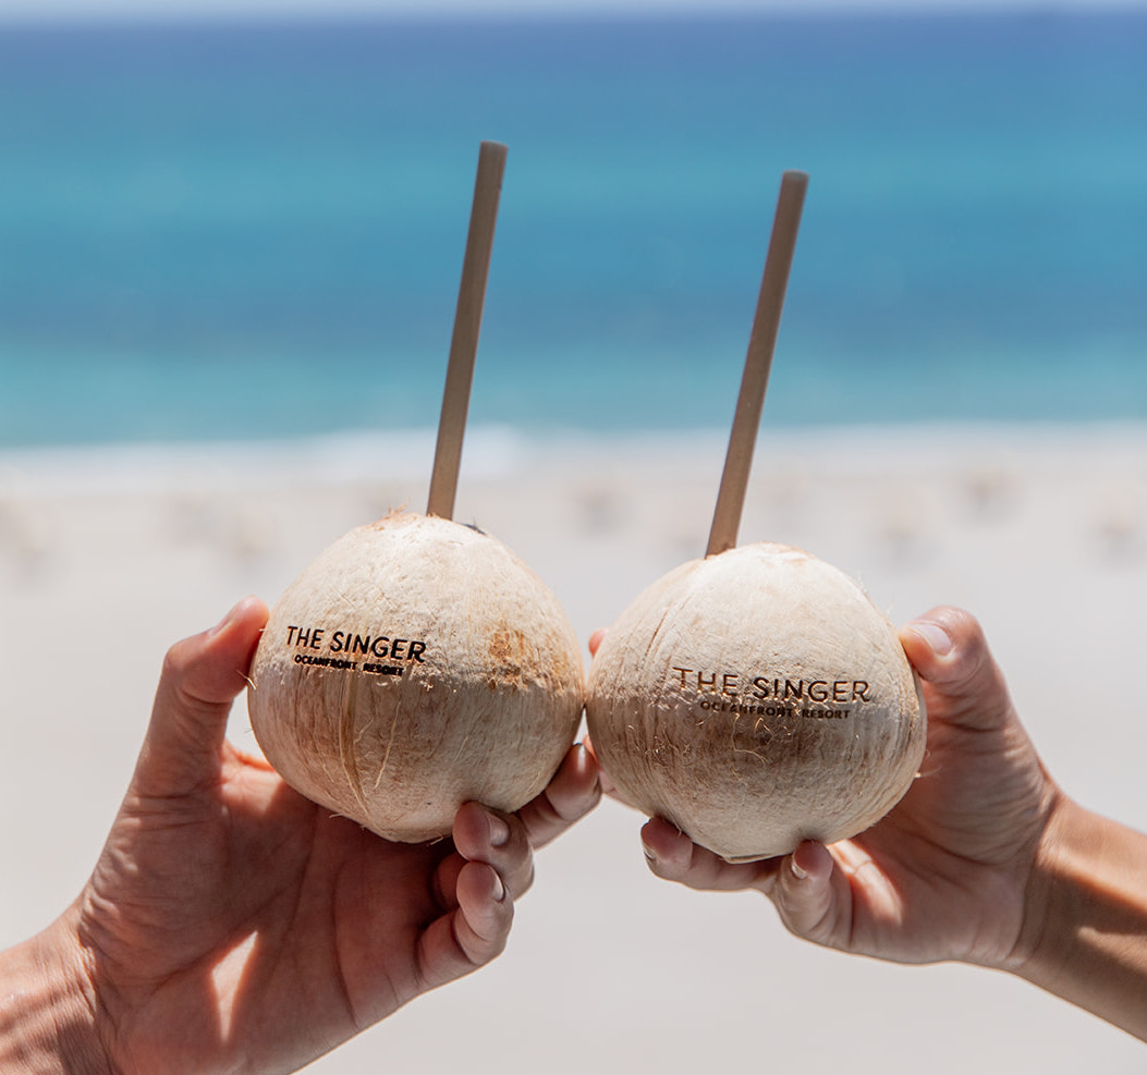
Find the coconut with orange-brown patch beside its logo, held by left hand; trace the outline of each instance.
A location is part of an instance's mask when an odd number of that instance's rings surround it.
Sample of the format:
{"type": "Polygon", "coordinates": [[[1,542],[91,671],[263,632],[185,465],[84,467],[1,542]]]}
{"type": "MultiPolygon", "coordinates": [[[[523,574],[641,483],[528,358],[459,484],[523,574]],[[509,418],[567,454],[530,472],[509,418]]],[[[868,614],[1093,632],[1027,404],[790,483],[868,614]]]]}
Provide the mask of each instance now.
{"type": "Polygon", "coordinates": [[[569,749],[584,695],[557,599],[494,538],[392,513],[344,535],[272,610],[248,708],[307,799],[388,840],[514,811],[569,749]]]}

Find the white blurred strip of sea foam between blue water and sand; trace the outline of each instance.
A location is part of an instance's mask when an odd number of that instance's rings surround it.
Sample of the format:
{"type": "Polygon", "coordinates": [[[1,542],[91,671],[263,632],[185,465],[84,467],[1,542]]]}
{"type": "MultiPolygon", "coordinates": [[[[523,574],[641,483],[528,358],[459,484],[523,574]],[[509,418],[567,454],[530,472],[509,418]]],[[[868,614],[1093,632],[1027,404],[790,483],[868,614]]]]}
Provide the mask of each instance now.
{"type": "MultiPolygon", "coordinates": [[[[461,472],[466,480],[513,476],[529,468],[626,469],[663,460],[694,460],[719,476],[727,431],[642,430],[598,434],[523,433],[507,426],[467,431],[461,472]]],[[[164,492],[187,485],[237,491],[257,482],[267,489],[304,484],[353,484],[373,480],[429,482],[432,429],[346,431],[271,441],[91,444],[0,451],[0,496],[109,496],[164,492]]],[[[1142,467],[1147,423],[950,423],[794,427],[762,430],[755,469],[801,460],[848,460],[860,468],[896,458],[898,468],[927,474],[953,455],[982,461],[1001,451],[1048,465],[1070,465],[1087,451],[1115,468],[1142,467]]]]}

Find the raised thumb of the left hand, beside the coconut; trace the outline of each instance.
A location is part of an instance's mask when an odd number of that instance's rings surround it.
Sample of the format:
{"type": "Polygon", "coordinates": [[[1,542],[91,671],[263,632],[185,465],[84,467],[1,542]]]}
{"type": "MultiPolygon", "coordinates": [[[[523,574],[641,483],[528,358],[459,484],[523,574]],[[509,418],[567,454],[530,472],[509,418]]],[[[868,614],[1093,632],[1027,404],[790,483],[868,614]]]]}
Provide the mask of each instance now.
{"type": "Polygon", "coordinates": [[[180,794],[217,777],[231,706],[266,622],[266,605],[244,598],[216,626],[167,651],[135,768],[138,790],[180,794]]]}

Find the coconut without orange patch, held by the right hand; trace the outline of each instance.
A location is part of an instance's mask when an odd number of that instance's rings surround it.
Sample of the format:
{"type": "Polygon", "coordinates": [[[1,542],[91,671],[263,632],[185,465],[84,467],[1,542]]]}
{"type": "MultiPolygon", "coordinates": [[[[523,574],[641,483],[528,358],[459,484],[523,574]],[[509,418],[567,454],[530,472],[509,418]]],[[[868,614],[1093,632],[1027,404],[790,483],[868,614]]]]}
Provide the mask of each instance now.
{"type": "Polygon", "coordinates": [[[924,749],[892,624],[844,572],[768,543],[640,594],[594,657],[586,718],[619,797],[729,862],[864,831],[924,749]]]}

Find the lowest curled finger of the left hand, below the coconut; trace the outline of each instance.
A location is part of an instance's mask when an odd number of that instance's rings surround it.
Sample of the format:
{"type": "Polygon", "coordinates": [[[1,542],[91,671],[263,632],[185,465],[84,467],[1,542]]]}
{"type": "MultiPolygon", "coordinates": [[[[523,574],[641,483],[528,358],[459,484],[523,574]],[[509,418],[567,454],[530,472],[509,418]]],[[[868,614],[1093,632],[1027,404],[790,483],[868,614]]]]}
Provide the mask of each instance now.
{"type": "Polygon", "coordinates": [[[469,974],[506,948],[514,901],[493,866],[467,863],[458,874],[455,898],[455,909],[435,919],[419,938],[423,989],[469,974]]]}

